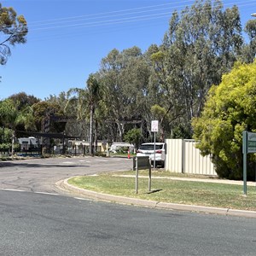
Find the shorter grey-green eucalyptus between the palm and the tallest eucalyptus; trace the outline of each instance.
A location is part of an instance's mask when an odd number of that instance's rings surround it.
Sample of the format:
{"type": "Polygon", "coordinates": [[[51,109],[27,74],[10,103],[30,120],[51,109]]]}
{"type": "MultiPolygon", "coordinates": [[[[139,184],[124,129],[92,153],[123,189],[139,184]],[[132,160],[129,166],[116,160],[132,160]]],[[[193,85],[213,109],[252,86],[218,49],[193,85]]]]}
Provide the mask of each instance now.
{"type": "Polygon", "coordinates": [[[113,49],[101,64],[99,73],[106,90],[108,122],[113,129],[117,127],[117,140],[123,141],[125,124],[143,119],[150,69],[141,49],[136,46],[122,52],[113,49]]]}

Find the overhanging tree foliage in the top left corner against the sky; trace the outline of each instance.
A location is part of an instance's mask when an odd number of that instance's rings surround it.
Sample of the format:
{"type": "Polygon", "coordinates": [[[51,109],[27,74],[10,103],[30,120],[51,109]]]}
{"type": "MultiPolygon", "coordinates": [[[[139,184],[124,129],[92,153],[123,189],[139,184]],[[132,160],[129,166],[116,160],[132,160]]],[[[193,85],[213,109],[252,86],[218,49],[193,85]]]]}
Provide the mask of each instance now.
{"type": "Polygon", "coordinates": [[[4,65],[11,55],[9,46],[26,43],[26,19],[23,15],[17,15],[12,7],[6,8],[0,3],[0,32],[0,64],[4,65]]]}

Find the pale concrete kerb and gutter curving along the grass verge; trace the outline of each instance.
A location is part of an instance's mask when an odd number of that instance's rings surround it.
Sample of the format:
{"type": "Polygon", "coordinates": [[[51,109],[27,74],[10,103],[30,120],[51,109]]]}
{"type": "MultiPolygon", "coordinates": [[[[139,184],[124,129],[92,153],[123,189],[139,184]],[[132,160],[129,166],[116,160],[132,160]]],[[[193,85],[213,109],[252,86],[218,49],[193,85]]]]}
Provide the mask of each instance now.
{"type": "Polygon", "coordinates": [[[205,213],[212,213],[212,214],[221,214],[225,216],[256,218],[256,212],[254,211],[243,211],[243,210],[236,210],[236,209],[230,209],[230,208],[201,207],[201,206],[166,203],[166,202],[159,202],[159,201],[148,201],[148,200],[125,197],[120,195],[108,195],[108,194],[98,193],[98,192],[87,190],[87,189],[80,189],[78,187],[75,187],[69,184],[68,183],[69,178],[55,183],[56,187],[58,189],[69,192],[71,194],[85,196],[87,198],[97,200],[97,201],[111,201],[111,202],[136,205],[141,207],[152,207],[152,208],[168,209],[168,210],[176,210],[176,211],[205,212],[205,213]]]}

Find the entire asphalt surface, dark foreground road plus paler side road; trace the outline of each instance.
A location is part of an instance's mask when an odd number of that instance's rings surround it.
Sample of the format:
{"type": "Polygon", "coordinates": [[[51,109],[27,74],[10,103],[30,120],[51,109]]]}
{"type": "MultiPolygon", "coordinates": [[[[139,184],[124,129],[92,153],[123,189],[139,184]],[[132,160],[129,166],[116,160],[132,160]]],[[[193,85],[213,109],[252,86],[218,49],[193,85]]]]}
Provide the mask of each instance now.
{"type": "Polygon", "coordinates": [[[255,255],[255,218],[88,201],[55,188],[131,166],[96,157],[0,162],[0,255],[255,255]]]}

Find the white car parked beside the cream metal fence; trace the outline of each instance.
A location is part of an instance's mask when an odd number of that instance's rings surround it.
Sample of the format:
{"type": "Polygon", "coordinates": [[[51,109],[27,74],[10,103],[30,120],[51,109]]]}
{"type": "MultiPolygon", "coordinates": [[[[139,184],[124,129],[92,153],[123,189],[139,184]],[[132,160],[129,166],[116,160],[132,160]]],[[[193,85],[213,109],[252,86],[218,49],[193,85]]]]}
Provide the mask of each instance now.
{"type": "MultiPolygon", "coordinates": [[[[154,143],[143,143],[137,149],[137,156],[148,156],[151,164],[154,164],[154,143]]],[[[165,143],[155,143],[155,166],[165,166],[165,143]]]]}

